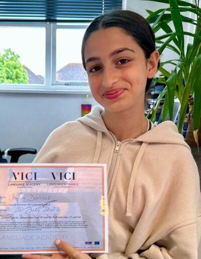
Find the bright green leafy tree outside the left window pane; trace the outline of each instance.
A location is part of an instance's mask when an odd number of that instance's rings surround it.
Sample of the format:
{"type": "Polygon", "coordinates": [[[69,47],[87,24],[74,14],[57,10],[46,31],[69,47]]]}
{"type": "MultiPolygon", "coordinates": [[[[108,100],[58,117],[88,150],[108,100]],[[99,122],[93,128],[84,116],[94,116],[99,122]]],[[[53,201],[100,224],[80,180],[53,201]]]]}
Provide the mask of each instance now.
{"type": "Polygon", "coordinates": [[[27,71],[20,63],[20,56],[11,49],[0,54],[0,83],[29,83],[27,71]]]}

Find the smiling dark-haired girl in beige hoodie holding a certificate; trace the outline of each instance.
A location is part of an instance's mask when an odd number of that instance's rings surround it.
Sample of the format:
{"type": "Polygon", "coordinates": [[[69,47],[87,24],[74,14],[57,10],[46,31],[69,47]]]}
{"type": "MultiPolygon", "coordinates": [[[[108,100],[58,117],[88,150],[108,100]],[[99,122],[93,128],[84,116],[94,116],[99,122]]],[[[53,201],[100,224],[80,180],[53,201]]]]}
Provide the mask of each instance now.
{"type": "Polygon", "coordinates": [[[78,259],[196,259],[197,167],[173,122],[154,126],[144,115],[145,92],[159,64],[149,24],[131,11],[96,18],[84,35],[82,60],[104,110],[95,106],[57,128],[34,162],[107,164],[109,253],[88,255],[63,241],[56,244],[66,257],[78,259]]]}

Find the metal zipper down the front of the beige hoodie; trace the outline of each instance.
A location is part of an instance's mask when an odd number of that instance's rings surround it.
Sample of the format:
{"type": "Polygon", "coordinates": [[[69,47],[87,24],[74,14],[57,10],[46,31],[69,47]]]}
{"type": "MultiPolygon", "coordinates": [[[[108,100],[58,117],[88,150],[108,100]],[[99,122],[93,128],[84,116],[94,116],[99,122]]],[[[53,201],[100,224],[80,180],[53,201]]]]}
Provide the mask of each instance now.
{"type": "Polygon", "coordinates": [[[110,166],[110,171],[108,173],[108,190],[109,190],[109,187],[110,187],[110,184],[111,184],[112,175],[113,175],[116,163],[117,163],[117,157],[118,157],[118,153],[119,153],[121,145],[124,142],[134,140],[134,139],[126,139],[126,140],[123,140],[123,141],[118,141],[118,139],[116,138],[116,136],[112,132],[109,132],[109,133],[113,136],[113,138],[115,140],[115,145],[116,146],[115,146],[115,151],[113,153],[113,158],[112,158],[112,162],[111,162],[111,166],[110,166]]]}

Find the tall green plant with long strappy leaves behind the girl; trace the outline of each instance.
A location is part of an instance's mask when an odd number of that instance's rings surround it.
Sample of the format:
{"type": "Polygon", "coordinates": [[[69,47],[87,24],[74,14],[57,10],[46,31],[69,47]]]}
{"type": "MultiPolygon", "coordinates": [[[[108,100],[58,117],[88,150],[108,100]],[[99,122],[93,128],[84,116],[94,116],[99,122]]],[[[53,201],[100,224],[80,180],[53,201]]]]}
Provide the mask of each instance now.
{"type": "Polygon", "coordinates": [[[146,19],[156,36],[159,30],[164,32],[156,37],[157,50],[161,54],[165,48],[168,48],[178,55],[178,59],[167,60],[160,64],[159,70],[167,79],[158,81],[165,83],[166,87],[154,104],[151,119],[154,120],[161,98],[165,96],[162,117],[165,120],[169,113],[172,120],[174,98],[177,97],[181,104],[178,122],[178,130],[181,132],[189,97],[193,97],[193,105],[192,102],[189,103],[189,112],[193,117],[193,135],[198,146],[198,136],[201,134],[199,130],[201,126],[201,9],[198,7],[199,3],[196,0],[194,4],[179,0],[149,1],[168,4],[167,8],[155,12],[146,10],[149,14],[146,19]],[[192,13],[195,19],[186,16],[186,12],[192,13]],[[194,25],[194,32],[184,31],[183,23],[194,25]],[[185,36],[192,37],[192,44],[188,43],[185,46],[185,36]],[[167,63],[173,66],[171,72],[164,68],[167,63]]]}

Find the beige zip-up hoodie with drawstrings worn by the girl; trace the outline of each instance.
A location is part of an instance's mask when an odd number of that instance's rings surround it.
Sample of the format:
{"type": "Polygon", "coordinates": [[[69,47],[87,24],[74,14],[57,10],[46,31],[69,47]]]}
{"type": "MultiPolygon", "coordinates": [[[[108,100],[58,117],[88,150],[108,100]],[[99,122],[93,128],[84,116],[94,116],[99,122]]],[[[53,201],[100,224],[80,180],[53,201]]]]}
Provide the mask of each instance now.
{"type": "MultiPolygon", "coordinates": [[[[197,259],[201,200],[196,164],[165,121],[119,142],[95,106],[48,137],[35,163],[106,163],[109,253],[99,259],[197,259]]],[[[200,258],[199,258],[200,259],[200,258]]]]}

